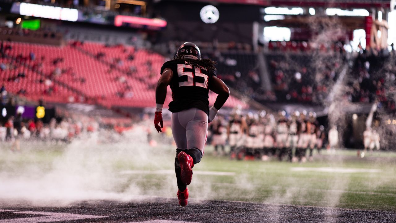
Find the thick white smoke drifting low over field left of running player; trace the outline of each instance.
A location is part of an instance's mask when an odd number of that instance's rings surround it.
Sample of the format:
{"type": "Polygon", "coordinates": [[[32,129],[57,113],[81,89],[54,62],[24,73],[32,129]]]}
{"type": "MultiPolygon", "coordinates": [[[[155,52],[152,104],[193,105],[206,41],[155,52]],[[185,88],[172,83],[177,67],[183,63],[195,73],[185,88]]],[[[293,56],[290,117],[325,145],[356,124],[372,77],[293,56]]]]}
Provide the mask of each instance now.
{"type": "Polygon", "coordinates": [[[101,144],[98,137],[101,135],[74,140],[48,165],[30,163],[40,158],[30,160],[29,153],[34,151],[29,151],[29,142],[21,143],[19,154],[1,150],[2,155],[11,159],[22,156],[27,159],[2,166],[0,203],[59,206],[83,200],[127,201],[159,194],[173,197],[176,188],[173,175],[156,178],[153,185],[140,185],[144,176],[138,174],[120,177],[125,169],[172,169],[174,156],[169,146],[152,148],[140,128],[133,129],[128,140],[121,142],[101,144]]]}

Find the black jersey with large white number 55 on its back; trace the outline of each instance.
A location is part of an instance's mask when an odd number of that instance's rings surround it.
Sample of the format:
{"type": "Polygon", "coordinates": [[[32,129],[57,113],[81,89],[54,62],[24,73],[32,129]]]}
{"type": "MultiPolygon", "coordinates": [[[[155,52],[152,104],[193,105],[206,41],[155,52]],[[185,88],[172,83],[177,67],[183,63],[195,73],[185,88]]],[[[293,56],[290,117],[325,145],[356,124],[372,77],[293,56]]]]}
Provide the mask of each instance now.
{"type": "Polygon", "coordinates": [[[198,108],[209,115],[208,83],[215,71],[189,65],[184,60],[171,60],[161,67],[161,74],[165,68],[170,68],[173,77],[170,83],[172,101],[169,111],[180,112],[189,108],[198,108]]]}

